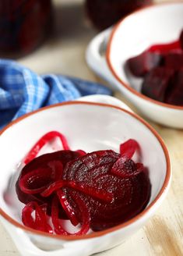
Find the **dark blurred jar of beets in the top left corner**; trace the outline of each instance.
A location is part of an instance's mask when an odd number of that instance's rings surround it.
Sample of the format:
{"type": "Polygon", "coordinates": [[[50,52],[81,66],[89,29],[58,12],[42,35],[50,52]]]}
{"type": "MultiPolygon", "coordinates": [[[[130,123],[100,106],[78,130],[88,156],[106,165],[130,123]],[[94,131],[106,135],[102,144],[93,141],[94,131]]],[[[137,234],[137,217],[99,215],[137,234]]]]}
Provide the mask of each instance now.
{"type": "Polygon", "coordinates": [[[0,57],[26,55],[50,29],[51,0],[0,1],[0,57]]]}

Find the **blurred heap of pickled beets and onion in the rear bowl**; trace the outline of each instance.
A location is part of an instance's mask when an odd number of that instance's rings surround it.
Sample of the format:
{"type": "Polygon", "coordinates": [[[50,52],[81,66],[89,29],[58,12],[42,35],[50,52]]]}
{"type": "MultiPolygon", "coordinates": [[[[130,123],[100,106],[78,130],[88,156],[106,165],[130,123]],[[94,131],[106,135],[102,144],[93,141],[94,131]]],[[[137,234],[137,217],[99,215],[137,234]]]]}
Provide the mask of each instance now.
{"type": "Polygon", "coordinates": [[[153,44],[141,55],[128,59],[127,65],[132,74],[144,76],[144,95],[171,105],[182,105],[182,50],[183,30],[177,41],[153,44]]]}

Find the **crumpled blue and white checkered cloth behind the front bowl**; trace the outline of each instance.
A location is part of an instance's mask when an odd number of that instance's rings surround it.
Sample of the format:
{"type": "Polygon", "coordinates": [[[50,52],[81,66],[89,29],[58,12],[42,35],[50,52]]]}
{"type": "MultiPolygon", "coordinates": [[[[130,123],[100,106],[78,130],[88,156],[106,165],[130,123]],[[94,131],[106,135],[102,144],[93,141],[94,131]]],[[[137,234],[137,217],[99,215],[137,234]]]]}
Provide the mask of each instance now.
{"type": "Polygon", "coordinates": [[[91,94],[111,95],[111,90],[69,76],[38,76],[17,62],[0,59],[0,129],[37,108],[91,94]]]}

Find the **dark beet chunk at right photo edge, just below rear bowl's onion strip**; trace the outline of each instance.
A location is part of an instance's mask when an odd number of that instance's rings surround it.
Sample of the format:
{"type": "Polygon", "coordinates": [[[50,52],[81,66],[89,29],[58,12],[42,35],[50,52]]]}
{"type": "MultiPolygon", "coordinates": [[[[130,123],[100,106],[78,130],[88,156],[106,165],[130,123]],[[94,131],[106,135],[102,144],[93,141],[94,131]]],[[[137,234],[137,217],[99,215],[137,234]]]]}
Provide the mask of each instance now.
{"type": "Polygon", "coordinates": [[[167,55],[165,55],[164,66],[175,70],[183,68],[183,52],[170,52],[167,55]]]}

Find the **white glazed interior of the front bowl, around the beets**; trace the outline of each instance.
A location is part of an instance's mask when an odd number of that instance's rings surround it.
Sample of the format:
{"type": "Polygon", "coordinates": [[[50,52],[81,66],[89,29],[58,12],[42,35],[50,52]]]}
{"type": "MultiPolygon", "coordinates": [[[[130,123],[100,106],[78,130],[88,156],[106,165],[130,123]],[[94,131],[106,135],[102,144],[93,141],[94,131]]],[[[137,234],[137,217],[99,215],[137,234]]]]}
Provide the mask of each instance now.
{"type": "MultiPolygon", "coordinates": [[[[140,161],[150,172],[150,203],[160,193],[167,175],[164,149],[155,134],[133,114],[109,105],[72,102],[45,108],[18,120],[0,136],[0,206],[12,219],[21,222],[23,204],[16,197],[15,183],[22,159],[35,142],[51,130],[68,139],[73,150],[119,150],[121,142],[133,138],[142,148],[140,161]]],[[[51,147],[43,152],[53,151],[51,147]]]]}

